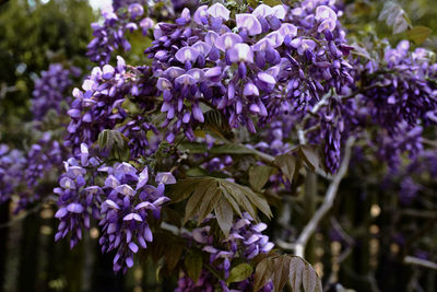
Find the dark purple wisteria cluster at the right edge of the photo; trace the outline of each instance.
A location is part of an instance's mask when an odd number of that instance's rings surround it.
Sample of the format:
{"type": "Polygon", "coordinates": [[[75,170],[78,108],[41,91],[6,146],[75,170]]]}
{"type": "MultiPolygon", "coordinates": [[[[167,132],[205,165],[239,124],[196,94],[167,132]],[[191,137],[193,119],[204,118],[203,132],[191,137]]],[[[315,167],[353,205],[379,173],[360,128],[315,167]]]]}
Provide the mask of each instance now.
{"type": "Polygon", "coordinates": [[[410,128],[421,120],[437,121],[437,66],[430,61],[430,52],[416,48],[410,52],[410,43],[403,40],[395,48],[387,48],[381,65],[368,62],[363,103],[377,125],[390,133],[410,128]]]}

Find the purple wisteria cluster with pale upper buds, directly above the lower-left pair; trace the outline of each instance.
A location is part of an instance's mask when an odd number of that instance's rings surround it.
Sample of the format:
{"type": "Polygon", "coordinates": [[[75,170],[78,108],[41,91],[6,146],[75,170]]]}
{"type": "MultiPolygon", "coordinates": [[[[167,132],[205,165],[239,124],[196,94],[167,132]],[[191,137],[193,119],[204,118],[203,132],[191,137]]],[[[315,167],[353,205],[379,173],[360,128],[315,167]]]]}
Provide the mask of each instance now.
{"type": "MultiPolygon", "coordinates": [[[[101,131],[114,129],[117,124],[125,121],[129,110],[125,109],[123,103],[130,97],[134,98],[139,110],[146,112],[155,106],[153,97],[156,90],[150,68],[126,66],[121,57],[117,57],[117,60],[116,67],[95,67],[83,82],[82,90],[73,90],[75,100],[68,112],[71,122],[66,141],[73,150],[78,150],[82,142],[95,142],[101,131]]],[[[138,130],[135,127],[147,128],[144,124],[145,121],[142,121],[133,126],[133,121],[125,126],[123,131],[133,133],[138,130]],[[129,130],[129,127],[132,129],[129,130]]],[[[146,144],[144,139],[137,141],[139,147],[146,144]]],[[[139,149],[135,152],[139,152],[139,149]]]]}

